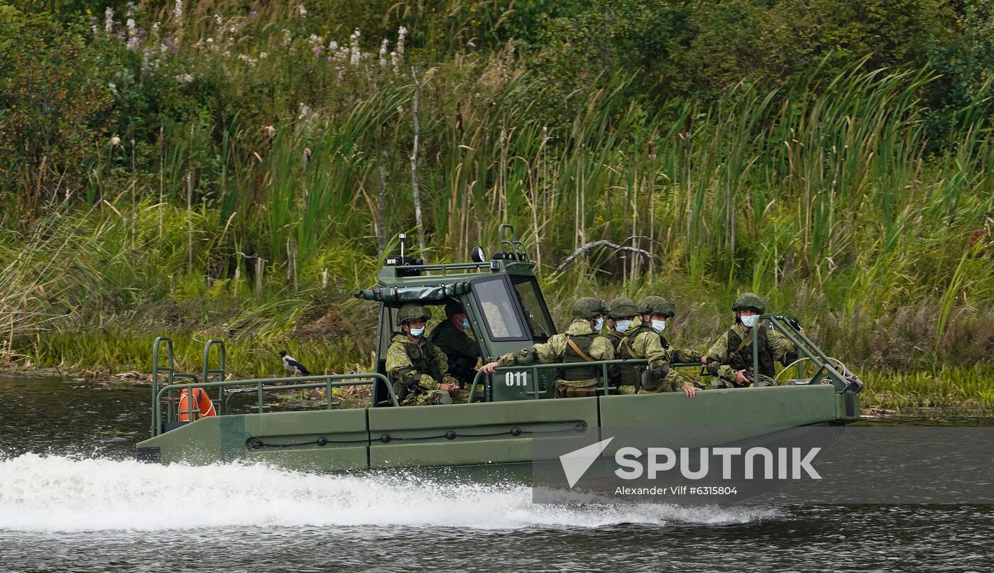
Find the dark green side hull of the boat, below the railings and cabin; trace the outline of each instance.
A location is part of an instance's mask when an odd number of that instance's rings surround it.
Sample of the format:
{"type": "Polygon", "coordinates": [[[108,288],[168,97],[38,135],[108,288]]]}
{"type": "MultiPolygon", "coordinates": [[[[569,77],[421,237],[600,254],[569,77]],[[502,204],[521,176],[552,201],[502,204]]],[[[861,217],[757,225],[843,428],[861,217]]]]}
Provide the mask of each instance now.
{"type": "Polygon", "coordinates": [[[693,400],[667,393],[238,414],[155,436],[138,445],[138,455],[163,464],[262,463],[307,472],[416,468],[528,478],[536,436],[568,444],[581,432],[636,428],[658,434],[661,443],[716,446],[775,429],[855,421],[858,394],[849,400],[820,384],[707,390],[693,400]]]}

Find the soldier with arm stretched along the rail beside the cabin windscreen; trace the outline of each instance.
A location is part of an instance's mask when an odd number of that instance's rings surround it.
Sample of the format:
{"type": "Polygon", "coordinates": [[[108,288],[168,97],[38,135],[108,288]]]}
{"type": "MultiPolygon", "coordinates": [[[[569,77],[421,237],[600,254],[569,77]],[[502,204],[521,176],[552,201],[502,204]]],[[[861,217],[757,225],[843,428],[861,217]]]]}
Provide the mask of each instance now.
{"type": "MultiPolygon", "coordinates": [[[[599,334],[604,325],[607,308],[604,301],[592,296],[583,296],[570,305],[573,321],[563,334],[554,334],[544,344],[535,344],[519,352],[510,352],[483,365],[484,372],[492,374],[498,366],[528,365],[535,362],[590,362],[612,360],[614,350],[610,341],[599,334]]],[[[577,398],[594,396],[597,387],[603,384],[599,366],[563,368],[556,380],[557,396],[577,398]]]]}

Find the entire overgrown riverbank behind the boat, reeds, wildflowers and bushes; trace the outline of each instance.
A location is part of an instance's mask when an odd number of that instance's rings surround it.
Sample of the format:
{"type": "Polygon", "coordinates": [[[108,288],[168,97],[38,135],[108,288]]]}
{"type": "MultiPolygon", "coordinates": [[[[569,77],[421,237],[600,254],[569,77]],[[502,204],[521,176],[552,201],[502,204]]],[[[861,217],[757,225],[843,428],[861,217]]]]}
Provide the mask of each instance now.
{"type": "Polygon", "coordinates": [[[512,223],[558,310],[661,293],[703,347],[747,288],[992,404],[992,81],[980,0],[0,0],[0,362],[363,368],[397,233],[512,223]],[[554,272],[601,239],[652,257],[554,272]]]}

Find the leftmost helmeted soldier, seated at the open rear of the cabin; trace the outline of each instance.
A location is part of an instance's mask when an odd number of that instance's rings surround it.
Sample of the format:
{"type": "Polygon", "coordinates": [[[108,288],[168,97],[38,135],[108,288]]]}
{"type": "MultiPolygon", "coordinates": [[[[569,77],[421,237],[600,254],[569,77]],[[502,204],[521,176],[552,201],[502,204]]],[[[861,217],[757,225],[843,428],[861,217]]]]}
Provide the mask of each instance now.
{"type": "Polygon", "coordinates": [[[452,404],[459,383],[448,373],[445,353],[422,336],[431,311],[414,303],[401,306],[395,332],[387,349],[387,375],[402,406],[452,404]]]}

